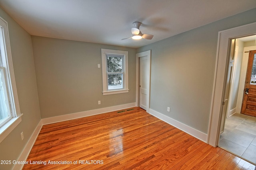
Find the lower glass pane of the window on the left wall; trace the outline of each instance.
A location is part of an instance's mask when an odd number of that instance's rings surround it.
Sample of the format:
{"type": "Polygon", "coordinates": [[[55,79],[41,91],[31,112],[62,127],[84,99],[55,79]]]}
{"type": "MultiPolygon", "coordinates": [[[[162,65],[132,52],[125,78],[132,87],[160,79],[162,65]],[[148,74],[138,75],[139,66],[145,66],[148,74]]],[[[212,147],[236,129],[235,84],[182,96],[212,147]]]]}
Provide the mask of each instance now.
{"type": "Polygon", "coordinates": [[[0,69],[0,123],[10,116],[7,92],[4,81],[4,70],[0,69]]]}

